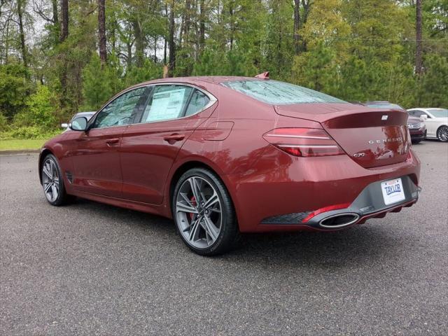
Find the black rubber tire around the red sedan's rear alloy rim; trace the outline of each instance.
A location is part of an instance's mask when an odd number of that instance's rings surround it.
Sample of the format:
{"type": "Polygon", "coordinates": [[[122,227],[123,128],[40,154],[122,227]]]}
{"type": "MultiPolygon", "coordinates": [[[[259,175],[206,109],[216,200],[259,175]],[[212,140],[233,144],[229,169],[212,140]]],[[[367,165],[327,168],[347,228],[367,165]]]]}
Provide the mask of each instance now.
{"type": "MultiPolygon", "coordinates": [[[[219,255],[229,251],[231,248],[237,244],[239,240],[239,230],[237,224],[237,218],[235,215],[235,208],[233,206],[232,200],[228,193],[227,188],[225,188],[223,181],[219,179],[219,177],[211,172],[209,169],[204,168],[193,168],[188,170],[188,172],[184,173],[179,181],[176,183],[176,187],[174,188],[174,193],[172,196],[172,214],[174,218],[174,222],[176,223],[176,230],[181,236],[183,242],[197,254],[200,255],[219,255]],[[204,179],[209,183],[210,186],[214,188],[216,194],[218,195],[219,202],[221,202],[221,228],[218,233],[218,237],[216,241],[210,246],[204,248],[198,248],[197,246],[193,246],[190,244],[190,241],[184,237],[183,232],[181,232],[181,220],[179,219],[179,215],[176,208],[177,197],[179,196],[179,190],[183,184],[190,178],[200,178],[204,179]]],[[[193,220],[192,220],[193,221],[193,220]]],[[[191,225],[190,225],[191,227],[191,225]]],[[[185,231],[184,231],[185,232],[185,231]]]]}

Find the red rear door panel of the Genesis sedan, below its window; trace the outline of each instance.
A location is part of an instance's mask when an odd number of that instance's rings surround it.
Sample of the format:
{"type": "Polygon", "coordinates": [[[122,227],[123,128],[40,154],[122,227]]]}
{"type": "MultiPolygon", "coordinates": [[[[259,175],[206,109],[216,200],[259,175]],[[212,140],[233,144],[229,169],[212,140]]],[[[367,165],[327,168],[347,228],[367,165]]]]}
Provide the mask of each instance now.
{"type": "Polygon", "coordinates": [[[215,108],[191,118],[127,127],[120,147],[123,198],[162,204],[167,177],[180,148],[215,108]]]}

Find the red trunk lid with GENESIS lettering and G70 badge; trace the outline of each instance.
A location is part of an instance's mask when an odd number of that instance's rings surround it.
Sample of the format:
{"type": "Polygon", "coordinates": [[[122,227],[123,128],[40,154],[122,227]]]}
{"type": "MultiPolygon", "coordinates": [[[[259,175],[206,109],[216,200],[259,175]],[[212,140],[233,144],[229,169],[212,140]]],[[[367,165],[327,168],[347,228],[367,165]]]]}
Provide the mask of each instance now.
{"type": "Polygon", "coordinates": [[[393,165],[409,155],[407,113],[356,104],[274,106],[281,116],[314,120],[355,162],[365,168],[393,165]]]}

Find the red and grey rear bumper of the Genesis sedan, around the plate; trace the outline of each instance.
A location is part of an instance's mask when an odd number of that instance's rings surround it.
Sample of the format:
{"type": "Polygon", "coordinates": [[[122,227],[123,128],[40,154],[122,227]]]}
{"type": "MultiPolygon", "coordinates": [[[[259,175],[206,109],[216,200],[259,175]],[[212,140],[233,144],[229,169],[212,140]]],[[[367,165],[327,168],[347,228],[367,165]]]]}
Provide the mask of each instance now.
{"type": "Polygon", "coordinates": [[[420,162],[412,152],[405,162],[370,169],[347,155],[294,158],[278,152],[267,150],[251,172],[226,176],[241,232],[339,230],[324,228],[321,221],[353,214],[353,223],[346,227],[400,211],[418,200],[420,162]],[[381,181],[399,177],[406,198],[386,206],[381,181]],[[333,204],[347,205],[304,221],[316,209],[333,204]]]}

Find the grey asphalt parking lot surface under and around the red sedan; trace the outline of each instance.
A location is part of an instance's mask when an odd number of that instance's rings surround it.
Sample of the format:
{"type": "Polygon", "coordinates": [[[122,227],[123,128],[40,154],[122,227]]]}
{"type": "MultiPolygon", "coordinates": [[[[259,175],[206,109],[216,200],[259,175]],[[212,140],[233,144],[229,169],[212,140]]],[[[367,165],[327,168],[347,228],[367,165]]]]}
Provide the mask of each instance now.
{"type": "Polygon", "coordinates": [[[165,218],[50,207],[0,157],[0,335],[448,335],[448,145],[414,146],[419,202],[342,232],[191,253],[165,218]]]}

